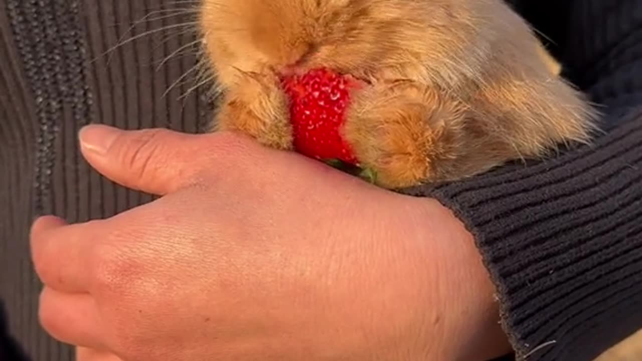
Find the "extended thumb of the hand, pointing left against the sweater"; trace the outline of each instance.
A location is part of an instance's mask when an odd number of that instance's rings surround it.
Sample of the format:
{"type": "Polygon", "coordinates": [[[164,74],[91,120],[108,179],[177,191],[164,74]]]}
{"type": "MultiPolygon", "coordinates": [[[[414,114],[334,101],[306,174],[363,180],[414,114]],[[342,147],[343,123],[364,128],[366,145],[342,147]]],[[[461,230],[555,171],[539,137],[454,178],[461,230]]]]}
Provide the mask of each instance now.
{"type": "Polygon", "coordinates": [[[155,195],[182,188],[193,174],[197,136],[162,128],[120,130],[87,125],[80,149],[92,167],[108,179],[155,195]]]}

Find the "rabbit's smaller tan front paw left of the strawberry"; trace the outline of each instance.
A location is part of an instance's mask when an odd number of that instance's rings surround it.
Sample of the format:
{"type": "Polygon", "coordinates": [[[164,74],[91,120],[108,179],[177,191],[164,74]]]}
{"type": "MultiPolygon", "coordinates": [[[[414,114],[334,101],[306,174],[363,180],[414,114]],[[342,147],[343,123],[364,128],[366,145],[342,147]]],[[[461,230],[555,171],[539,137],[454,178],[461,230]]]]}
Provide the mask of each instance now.
{"type": "Polygon", "coordinates": [[[291,150],[292,130],[286,94],[275,76],[252,74],[227,90],[214,130],[240,132],[259,143],[291,150]]]}

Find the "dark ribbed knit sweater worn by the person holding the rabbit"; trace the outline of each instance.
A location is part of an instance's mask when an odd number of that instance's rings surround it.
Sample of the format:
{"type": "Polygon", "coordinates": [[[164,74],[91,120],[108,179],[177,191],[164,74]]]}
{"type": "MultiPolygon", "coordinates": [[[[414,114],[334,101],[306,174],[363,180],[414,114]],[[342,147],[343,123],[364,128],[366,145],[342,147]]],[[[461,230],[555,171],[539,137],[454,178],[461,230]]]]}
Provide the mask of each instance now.
{"type": "MultiPolygon", "coordinates": [[[[159,67],[195,39],[178,25],[193,21],[189,13],[159,10],[187,3],[0,0],[0,299],[8,330],[35,361],[69,361],[72,351],[37,321],[33,217],[77,222],[150,200],[92,171],[78,129],[199,132],[211,119],[202,89],[181,78],[194,49],[159,67]],[[140,37],[105,55],[132,36],[140,37]]],[[[605,134],[550,161],[408,193],[438,198],[474,234],[518,355],[588,361],[642,328],[642,1],[515,3],[600,105],[605,134]]],[[[0,357],[17,358],[12,349],[0,357]]]]}

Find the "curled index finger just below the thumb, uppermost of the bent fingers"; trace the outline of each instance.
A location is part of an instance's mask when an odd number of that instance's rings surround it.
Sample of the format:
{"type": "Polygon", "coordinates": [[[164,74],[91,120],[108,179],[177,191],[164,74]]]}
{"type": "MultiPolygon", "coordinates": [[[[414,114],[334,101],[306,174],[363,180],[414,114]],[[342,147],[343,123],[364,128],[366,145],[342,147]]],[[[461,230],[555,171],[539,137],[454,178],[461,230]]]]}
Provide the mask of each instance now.
{"type": "Polygon", "coordinates": [[[43,216],[33,223],[31,258],[42,283],[64,292],[87,292],[91,247],[97,235],[105,234],[102,222],[69,225],[61,218],[43,216]]]}

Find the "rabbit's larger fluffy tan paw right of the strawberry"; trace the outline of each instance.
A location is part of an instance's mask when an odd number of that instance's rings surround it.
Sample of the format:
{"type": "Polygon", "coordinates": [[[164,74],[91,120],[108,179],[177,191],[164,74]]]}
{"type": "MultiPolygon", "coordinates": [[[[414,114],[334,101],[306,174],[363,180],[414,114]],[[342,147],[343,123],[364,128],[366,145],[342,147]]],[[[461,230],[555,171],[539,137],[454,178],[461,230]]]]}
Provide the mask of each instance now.
{"type": "Polygon", "coordinates": [[[416,186],[435,179],[452,146],[440,144],[448,141],[444,125],[463,124],[465,115],[463,105],[423,85],[375,84],[355,94],[343,137],[365,178],[384,188],[416,186]]]}

